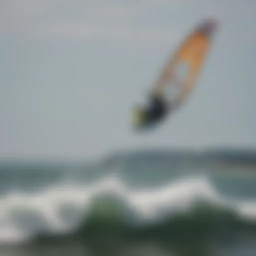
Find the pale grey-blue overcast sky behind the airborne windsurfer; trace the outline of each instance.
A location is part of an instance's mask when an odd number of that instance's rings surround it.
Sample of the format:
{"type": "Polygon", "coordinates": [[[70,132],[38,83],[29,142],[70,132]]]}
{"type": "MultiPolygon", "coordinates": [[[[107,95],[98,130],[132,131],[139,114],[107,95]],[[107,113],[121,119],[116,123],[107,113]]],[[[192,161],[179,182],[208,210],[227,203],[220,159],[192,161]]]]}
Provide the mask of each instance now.
{"type": "Polygon", "coordinates": [[[255,12],[255,0],[1,0],[0,157],[256,147],[255,12]],[[196,89],[136,134],[132,106],[208,16],[220,25],[196,89]]]}

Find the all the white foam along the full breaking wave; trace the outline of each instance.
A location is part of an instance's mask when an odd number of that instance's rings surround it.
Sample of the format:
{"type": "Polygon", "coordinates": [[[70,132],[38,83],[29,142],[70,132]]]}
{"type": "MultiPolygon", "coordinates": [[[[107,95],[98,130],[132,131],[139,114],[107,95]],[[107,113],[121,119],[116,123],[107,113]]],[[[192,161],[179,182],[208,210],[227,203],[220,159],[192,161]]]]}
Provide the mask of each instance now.
{"type": "MultiPolygon", "coordinates": [[[[42,223],[47,223],[49,231],[64,232],[86,214],[95,195],[109,191],[124,198],[140,218],[149,220],[157,219],[164,212],[187,210],[198,198],[230,204],[217,193],[210,181],[202,176],[187,177],[162,187],[143,190],[131,189],[118,177],[109,176],[88,186],[66,182],[33,194],[10,191],[0,197],[0,242],[16,242],[27,239],[42,228],[45,230],[45,226],[39,223],[27,226],[24,230],[24,227],[20,227],[22,223],[15,219],[14,213],[17,211],[40,213],[42,223]],[[70,205],[76,214],[70,218],[61,217],[60,208],[63,205],[70,205]]],[[[232,205],[242,216],[253,215],[256,218],[256,202],[236,202],[232,205]]]]}

